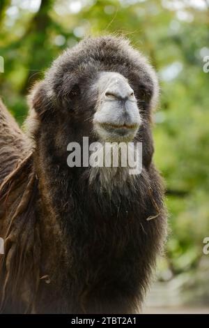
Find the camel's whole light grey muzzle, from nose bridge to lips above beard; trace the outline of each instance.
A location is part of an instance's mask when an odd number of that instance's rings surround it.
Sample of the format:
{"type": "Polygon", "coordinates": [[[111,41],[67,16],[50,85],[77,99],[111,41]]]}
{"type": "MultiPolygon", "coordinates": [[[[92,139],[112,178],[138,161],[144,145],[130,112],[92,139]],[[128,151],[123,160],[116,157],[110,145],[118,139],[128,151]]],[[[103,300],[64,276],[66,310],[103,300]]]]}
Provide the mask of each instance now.
{"type": "Polygon", "coordinates": [[[119,73],[104,72],[96,87],[100,96],[93,119],[95,131],[104,141],[132,141],[141,117],[128,81],[119,73]]]}

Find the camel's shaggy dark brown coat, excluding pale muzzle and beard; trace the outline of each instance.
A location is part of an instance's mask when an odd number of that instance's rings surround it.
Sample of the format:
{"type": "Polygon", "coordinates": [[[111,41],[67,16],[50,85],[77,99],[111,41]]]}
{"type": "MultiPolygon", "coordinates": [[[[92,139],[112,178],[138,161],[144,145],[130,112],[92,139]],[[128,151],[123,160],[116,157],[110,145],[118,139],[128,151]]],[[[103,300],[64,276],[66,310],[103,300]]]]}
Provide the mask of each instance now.
{"type": "Polygon", "coordinates": [[[1,313],[134,313],[144,299],[167,223],[152,162],[151,109],[157,81],[144,57],[111,36],[79,43],[54,61],[31,94],[33,148],[0,104],[1,313]],[[67,144],[96,141],[101,71],[127,78],[143,125],[143,170],[109,197],[89,167],[66,165],[67,144]],[[26,155],[27,154],[27,155],[26,155]],[[153,219],[152,219],[153,218],[153,219]]]}

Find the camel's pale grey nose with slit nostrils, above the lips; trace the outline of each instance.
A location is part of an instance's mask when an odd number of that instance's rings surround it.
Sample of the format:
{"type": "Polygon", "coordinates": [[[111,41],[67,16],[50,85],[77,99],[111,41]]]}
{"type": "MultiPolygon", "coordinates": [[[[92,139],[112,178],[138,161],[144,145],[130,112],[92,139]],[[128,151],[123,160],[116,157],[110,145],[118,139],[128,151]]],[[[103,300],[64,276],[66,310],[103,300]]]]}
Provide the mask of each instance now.
{"type": "Polygon", "coordinates": [[[123,79],[116,78],[105,90],[105,97],[111,100],[128,100],[134,98],[134,91],[123,79]]]}

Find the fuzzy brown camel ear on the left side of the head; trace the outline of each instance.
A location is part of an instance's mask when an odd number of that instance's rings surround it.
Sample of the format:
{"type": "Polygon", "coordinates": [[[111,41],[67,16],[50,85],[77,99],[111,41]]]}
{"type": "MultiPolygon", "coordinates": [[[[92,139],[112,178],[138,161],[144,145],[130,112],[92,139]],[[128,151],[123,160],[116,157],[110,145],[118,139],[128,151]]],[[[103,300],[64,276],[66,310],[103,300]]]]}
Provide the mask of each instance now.
{"type": "Polygon", "coordinates": [[[50,107],[52,107],[52,103],[52,93],[48,90],[45,82],[36,83],[29,95],[31,109],[35,110],[38,117],[42,119],[48,110],[50,110],[50,107]]]}

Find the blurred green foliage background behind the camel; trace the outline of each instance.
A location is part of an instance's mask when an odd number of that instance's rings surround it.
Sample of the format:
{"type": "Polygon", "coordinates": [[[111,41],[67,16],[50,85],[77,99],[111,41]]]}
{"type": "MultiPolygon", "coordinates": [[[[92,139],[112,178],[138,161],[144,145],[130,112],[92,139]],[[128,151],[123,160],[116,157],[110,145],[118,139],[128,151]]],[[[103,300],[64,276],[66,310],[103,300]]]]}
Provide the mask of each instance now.
{"type": "Polygon", "coordinates": [[[209,313],[209,1],[0,0],[1,98],[22,124],[26,94],[52,60],[106,33],[144,52],[161,85],[155,163],[167,184],[171,231],[144,311],[209,313]]]}

